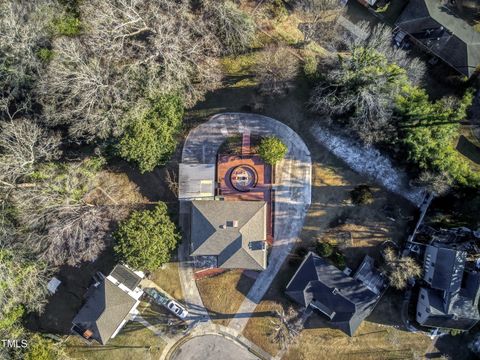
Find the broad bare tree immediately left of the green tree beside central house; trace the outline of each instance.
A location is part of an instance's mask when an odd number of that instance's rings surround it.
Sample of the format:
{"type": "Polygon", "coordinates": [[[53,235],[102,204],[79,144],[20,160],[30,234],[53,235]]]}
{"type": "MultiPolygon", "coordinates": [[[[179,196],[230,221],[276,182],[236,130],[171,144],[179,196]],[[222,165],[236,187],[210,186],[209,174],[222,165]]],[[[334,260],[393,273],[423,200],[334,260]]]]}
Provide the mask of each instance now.
{"type": "MultiPolygon", "coordinates": [[[[88,161],[88,160],[87,160],[88,161]]],[[[112,221],[128,206],[94,201],[96,172],[85,163],[48,165],[31,187],[16,188],[11,199],[25,230],[12,244],[53,265],[93,261],[109,243],[112,221]]]]}

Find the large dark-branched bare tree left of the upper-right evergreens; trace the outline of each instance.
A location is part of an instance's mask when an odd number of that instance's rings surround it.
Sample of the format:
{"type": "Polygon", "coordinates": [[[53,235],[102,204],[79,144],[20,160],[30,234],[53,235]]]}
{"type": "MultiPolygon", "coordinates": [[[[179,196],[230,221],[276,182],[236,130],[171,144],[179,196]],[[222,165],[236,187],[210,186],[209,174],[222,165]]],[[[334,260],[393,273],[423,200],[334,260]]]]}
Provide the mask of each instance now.
{"type": "Polygon", "coordinates": [[[363,47],[346,58],[332,57],[323,65],[324,80],[313,90],[313,111],[346,119],[349,129],[365,143],[388,138],[393,98],[404,77],[392,72],[383,55],[363,47]]]}

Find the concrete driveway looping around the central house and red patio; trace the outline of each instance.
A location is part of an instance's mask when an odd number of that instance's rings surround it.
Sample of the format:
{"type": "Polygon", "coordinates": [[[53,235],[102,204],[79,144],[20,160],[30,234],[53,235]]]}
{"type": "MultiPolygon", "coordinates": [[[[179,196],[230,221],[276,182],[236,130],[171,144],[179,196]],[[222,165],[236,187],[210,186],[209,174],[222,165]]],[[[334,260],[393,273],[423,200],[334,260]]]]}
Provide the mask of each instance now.
{"type": "MultiPolygon", "coordinates": [[[[310,152],[292,129],[272,118],[243,113],[224,113],[213,116],[209,121],[190,131],[182,152],[184,163],[216,162],[218,148],[229,136],[250,131],[254,136],[274,135],[287,145],[286,158],[275,168],[275,234],[274,245],[268,259],[269,264],[262,271],[250,289],[245,301],[229,326],[241,332],[257,304],[270,287],[275,275],[288,256],[303,227],[303,221],[311,202],[311,159],[310,152]]],[[[186,249],[181,249],[181,259],[185,259],[186,249]]],[[[182,266],[182,283],[187,288],[187,302],[201,304],[196,290],[193,272],[182,266]],[[182,276],[183,275],[183,276],[182,276]],[[187,284],[190,282],[193,284],[187,284]],[[195,287],[195,289],[193,289],[195,287]]]]}

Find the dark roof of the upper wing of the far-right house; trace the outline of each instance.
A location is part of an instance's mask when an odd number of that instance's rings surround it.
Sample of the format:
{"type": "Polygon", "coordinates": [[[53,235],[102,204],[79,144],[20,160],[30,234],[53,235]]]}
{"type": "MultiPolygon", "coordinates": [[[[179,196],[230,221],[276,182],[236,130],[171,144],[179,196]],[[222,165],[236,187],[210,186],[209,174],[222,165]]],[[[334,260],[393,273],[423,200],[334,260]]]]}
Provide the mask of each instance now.
{"type": "Polygon", "coordinates": [[[456,292],[462,283],[467,253],[441,245],[427,245],[424,280],[434,289],[456,292]]]}

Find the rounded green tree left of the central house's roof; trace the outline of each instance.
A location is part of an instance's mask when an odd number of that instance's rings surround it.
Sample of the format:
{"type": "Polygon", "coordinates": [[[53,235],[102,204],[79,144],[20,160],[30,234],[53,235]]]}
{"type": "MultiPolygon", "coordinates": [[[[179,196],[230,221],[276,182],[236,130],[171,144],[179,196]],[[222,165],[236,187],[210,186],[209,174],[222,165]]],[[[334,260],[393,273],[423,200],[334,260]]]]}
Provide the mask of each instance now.
{"type": "Polygon", "coordinates": [[[119,259],[144,271],[155,271],[167,263],[181,238],[162,202],[153,210],[134,211],[114,237],[119,259]]]}

